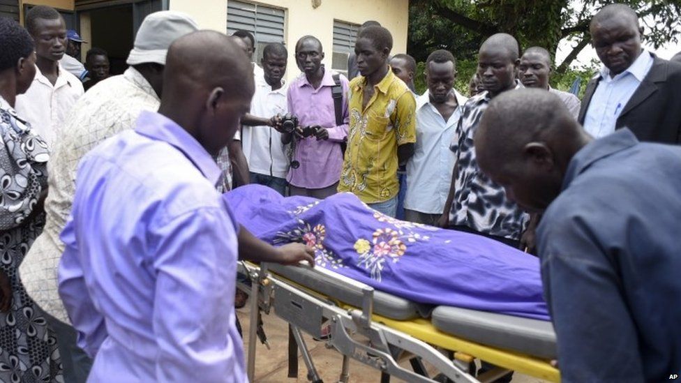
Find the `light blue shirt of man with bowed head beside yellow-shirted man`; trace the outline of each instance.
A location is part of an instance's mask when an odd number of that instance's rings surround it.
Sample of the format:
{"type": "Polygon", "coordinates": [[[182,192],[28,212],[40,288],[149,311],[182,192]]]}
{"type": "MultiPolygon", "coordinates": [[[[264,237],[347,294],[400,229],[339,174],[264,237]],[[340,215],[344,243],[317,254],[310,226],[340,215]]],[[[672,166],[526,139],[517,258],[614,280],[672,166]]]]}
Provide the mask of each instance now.
{"type": "Polygon", "coordinates": [[[407,162],[405,209],[428,214],[442,214],[444,210],[455,160],[449,145],[467,101],[456,90],[454,95],[458,107],[447,121],[431,104],[428,91],[417,97],[416,143],[414,156],[407,162]]]}

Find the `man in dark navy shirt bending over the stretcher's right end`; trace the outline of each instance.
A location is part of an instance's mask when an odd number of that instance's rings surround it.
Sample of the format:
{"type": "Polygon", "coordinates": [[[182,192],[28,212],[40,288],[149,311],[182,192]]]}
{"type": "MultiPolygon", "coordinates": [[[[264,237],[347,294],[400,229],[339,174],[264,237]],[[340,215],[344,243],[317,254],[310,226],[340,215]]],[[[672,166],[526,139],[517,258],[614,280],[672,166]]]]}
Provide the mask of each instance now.
{"type": "Polygon", "coordinates": [[[502,95],[475,136],[483,172],[527,211],[562,382],[681,373],[681,148],[622,128],[599,140],[557,96],[502,95]],[[527,123],[534,121],[534,123],[527,123]]]}

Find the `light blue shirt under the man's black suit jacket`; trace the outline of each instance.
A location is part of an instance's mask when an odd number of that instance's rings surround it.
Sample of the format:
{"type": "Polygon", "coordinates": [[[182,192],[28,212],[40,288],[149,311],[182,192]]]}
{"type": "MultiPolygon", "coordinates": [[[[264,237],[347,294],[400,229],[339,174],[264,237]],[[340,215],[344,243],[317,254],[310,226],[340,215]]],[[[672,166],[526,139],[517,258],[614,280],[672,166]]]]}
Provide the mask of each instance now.
{"type": "Polygon", "coordinates": [[[652,68],[652,55],[642,52],[636,61],[615,77],[610,77],[610,70],[601,68],[596,91],[591,98],[584,117],[584,130],[595,138],[615,132],[615,124],[629,98],[652,68]]]}

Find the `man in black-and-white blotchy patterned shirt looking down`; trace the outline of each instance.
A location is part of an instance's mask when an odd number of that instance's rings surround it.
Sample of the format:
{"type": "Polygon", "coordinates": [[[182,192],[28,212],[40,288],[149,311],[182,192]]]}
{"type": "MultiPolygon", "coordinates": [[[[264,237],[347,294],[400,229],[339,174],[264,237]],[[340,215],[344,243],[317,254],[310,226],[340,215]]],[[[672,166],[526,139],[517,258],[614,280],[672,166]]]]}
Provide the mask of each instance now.
{"type": "Polygon", "coordinates": [[[478,74],[486,91],[470,98],[451,143],[456,163],[449,197],[438,224],[473,232],[518,247],[527,214],[510,202],[504,188],[479,170],[473,136],[492,98],[522,87],[515,80],[518,42],[506,33],[488,38],[478,54],[478,74]]]}

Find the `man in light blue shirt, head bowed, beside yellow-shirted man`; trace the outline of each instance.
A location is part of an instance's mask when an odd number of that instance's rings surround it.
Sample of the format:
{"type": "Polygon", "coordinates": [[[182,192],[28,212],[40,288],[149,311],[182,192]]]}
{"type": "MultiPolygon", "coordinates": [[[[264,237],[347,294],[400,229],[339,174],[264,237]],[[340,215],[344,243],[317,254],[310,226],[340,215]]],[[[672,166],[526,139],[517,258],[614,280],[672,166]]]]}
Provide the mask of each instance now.
{"type": "Polygon", "coordinates": [[[405,219],[437,225],[449,195],[454,139],[461,109],[467,98],[454,89],[456,59],[447,50],[436,50],[426,60],[428,91],[417,98],[416,144],[407,163],[405,219]]]}

